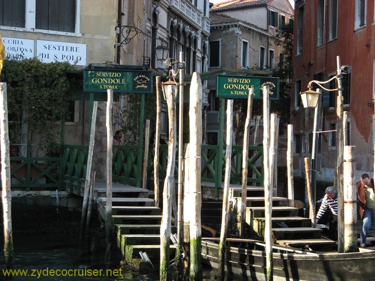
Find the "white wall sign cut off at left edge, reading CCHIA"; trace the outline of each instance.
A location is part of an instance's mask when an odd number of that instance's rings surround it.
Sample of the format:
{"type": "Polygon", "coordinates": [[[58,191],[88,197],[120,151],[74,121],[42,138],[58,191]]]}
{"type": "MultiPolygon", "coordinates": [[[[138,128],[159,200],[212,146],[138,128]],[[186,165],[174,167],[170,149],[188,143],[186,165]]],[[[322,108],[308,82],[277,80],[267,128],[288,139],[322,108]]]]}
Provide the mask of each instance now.
{"type": "Polygon", "coordinates": [[[5,57],[22,60],[34,58],[34,40],[3,37],[5,57]]]}

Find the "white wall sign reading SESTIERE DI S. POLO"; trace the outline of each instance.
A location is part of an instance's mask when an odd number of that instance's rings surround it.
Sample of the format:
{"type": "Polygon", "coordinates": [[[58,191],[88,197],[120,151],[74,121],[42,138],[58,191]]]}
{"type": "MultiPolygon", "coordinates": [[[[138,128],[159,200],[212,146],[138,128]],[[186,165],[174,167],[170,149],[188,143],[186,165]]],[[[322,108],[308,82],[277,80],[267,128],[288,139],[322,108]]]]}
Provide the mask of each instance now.
{"type": "Polygon", "coordinates": [[[86,44],[37,40],[37,58],[42,62],[68,61],[86,65],[86,44]]]}

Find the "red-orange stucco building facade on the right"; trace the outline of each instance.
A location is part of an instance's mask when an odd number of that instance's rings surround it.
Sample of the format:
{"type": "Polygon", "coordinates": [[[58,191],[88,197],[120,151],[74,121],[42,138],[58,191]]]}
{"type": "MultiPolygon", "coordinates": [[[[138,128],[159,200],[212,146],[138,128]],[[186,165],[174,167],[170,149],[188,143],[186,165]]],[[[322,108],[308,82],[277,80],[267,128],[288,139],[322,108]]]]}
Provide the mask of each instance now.
{"type": "MultiPolygon", "coordinates": [[[[303,157],[311,152],[313,111],[303,108],[299,93],[312,80],[327,81],[341,65],[350,66],[342,74],[342,96],[347,111],[347,144],[356,147],[357,177],[374,168],[374,1],[296,0],[294,12],[293,82],[291,112],[294,124],[294,168],[304,170],[303,157]],[[310,141],[309,141],[310,139],[310,141]],[[310,145],[308,144],[310,143],[310,145]]],[[[312,83],[314,89],[316,84],[312,83]]],[[[336,89],[336,79],[324,84],[336,89]]],[[[336,159],[337,91],[322,90],[319,113],[317,179],[333,181],[336,159]]]]}

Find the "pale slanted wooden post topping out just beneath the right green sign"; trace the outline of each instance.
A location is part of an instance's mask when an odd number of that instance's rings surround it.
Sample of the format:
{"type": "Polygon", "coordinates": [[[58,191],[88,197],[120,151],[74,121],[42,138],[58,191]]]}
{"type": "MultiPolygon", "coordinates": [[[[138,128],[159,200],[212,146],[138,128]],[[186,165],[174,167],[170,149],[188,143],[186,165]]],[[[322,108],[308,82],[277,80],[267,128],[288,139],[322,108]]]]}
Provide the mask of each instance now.
{"type": "Polygon", "coordinates": [[[227,240],[227,224],[229,212],[229,181],[230,181],[230,167],[232,156],[232,129],[233,129],[233,100],[227,101],[227,138],[225,151],[225,175],[224,175],[224,190],[223,190],[223,210],[221,215],[221,229],[219,241],[219,261],[217,269],[218,280],[224,278],[225,272],[225,244],[227,240]]]}

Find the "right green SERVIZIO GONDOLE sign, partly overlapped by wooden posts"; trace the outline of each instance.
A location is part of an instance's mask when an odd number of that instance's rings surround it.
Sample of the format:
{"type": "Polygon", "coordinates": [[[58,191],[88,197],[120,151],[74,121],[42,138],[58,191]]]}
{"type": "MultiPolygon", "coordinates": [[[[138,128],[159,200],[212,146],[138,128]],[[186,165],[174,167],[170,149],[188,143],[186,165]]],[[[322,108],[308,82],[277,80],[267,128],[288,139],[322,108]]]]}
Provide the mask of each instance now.
{"type": "Polygon", "coordinates": [[[249,89],[254,88],[254,99],[263,99],[263,86],[269,86],[270,100],[279,99],[279,78],[258,76],[218,75],[216,79],[216,97],[249,97],[249,89]]]}

